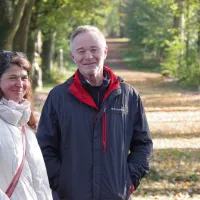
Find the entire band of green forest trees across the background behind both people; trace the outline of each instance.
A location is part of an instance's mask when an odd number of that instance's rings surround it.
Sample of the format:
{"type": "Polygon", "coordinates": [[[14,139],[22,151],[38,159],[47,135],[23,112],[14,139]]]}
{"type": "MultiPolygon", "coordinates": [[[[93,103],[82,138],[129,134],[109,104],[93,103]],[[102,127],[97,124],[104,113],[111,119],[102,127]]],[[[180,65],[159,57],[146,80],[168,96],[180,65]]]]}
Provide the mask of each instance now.
{"type": "Polygon", "coordinates": [[[200,87],[199,0],[0,0],[0,48],[33,61],[41,33],[43,76],[69,51],[69,34],[81,24],[110,37],[129,37],[138,63],[160,66],[183,84],[200,87]],[[145,62],[147,61],[147,62],[145,62]]]}

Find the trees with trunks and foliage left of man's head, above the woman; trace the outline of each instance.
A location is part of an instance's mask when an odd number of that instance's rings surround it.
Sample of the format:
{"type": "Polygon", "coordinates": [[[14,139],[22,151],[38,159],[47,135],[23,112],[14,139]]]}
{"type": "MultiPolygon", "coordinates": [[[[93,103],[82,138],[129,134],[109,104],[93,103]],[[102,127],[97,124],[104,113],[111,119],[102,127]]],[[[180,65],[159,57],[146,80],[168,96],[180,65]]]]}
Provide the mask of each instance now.
{"type": "Polygon", "coordinates": [[[48,78],[59,49],[69,50],[69,34],[82,24],[103,27],[107,0],[0,0],[0,48],[22,51],[33,61],[41,55],[43,77],[48,78]],[[42,49],[35,49],[38,32],[42,49]]]}

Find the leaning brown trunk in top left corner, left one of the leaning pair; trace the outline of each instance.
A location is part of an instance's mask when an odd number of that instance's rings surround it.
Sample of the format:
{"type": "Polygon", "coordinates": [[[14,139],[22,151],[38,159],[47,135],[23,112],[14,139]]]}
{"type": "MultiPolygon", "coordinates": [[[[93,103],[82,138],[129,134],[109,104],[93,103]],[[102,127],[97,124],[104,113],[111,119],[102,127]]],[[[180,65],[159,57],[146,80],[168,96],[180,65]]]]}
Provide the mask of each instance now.
{"type": "MultiPolygon", "coordinates": [[[[10,1],[8,1],[8,3],[10,3],[10,1]]],[[[6,33],[6,36],[3,38],[3,45],[2,45],[3,49],[10,49],[10,50],[13,49],[13,39],[19,28],[20,21],[24,13],[25,5],[26,5],[26,0],[19,0],[17,6],[13,7],[13,17],[11,18],[9,16],[9,24],[3,25],[5,27],[5,33],[6,33]]],[[[6,6],[8,6],[8,4],[6,6]]]]}

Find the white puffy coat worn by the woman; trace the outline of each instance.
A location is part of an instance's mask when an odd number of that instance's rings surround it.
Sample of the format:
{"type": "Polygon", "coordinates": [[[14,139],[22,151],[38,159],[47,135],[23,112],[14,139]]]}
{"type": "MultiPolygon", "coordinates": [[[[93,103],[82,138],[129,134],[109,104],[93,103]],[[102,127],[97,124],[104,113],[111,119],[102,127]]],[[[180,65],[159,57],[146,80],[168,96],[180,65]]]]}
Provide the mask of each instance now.
{"type": "Polygon", "coordinates": [[[35,134],[26,124],[30,103],[0,100],[0,200],[9,200],[9,187],[23,156],[21,128],[25,125],[26,155],[11,200],[52,200],[47,172],[35,134]]]}

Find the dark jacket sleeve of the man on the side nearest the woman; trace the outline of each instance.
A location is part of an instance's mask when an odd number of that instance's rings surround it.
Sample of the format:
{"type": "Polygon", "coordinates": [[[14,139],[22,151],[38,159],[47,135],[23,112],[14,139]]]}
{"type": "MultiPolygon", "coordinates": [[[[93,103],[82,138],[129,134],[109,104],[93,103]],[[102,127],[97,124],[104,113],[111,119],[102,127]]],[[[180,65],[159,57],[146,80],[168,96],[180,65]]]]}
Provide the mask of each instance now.
{"type": "Polygon", "coordinates": [[[61,167],[60,128],[52,96],[50,92],[44,104],[36,137],[44,157],[50,187],[56,190],[61,167]]]}

